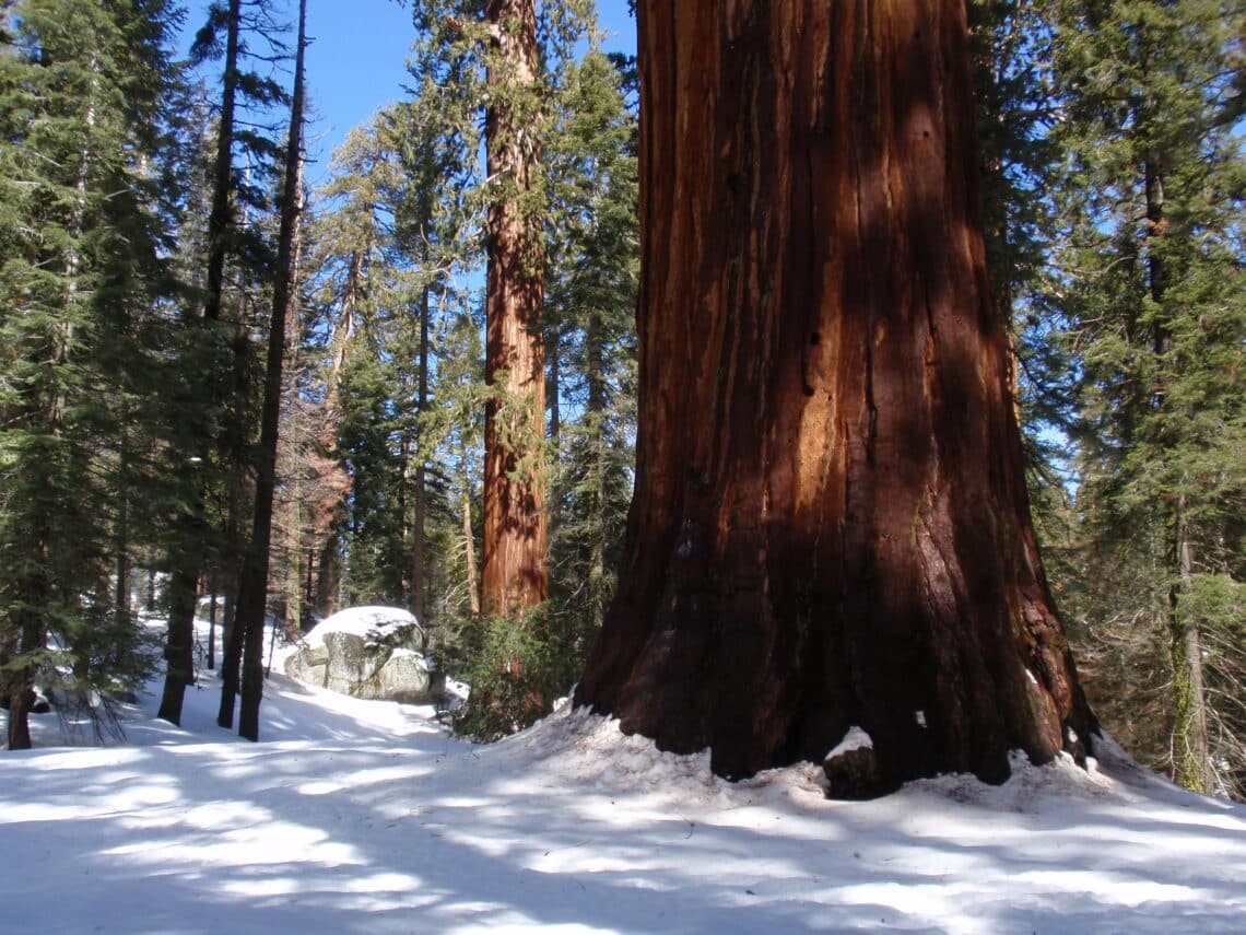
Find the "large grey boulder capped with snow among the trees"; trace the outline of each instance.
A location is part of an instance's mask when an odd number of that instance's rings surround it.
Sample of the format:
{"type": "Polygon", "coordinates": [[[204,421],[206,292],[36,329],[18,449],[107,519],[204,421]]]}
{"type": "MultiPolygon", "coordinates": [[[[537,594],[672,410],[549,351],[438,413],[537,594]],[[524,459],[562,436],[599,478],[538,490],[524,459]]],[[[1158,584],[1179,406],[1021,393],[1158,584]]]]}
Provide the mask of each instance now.
{"type": "Polygon", "coordinates": [[[424,654],[424,627],[399,607],[351,607],[325,617],[285,659],[285,674],[355,698],[426,703],[445,676],[424,654]]]}

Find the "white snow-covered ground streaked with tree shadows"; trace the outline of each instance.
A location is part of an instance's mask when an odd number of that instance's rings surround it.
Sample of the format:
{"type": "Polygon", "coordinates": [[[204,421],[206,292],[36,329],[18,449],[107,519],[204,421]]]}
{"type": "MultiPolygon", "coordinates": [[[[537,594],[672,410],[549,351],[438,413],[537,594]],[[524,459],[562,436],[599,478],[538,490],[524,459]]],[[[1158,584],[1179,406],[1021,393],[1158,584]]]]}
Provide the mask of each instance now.
{"type": "Polygon", "coordinates": [[[1246,933],[1246,808],[1119,753],[845,803],[567,708],[481,747],[274,674],[252,744],[218,698],[174,728],[147,697],[102,748],[32,718],[0,753],[0,931],[1246,933]]]}

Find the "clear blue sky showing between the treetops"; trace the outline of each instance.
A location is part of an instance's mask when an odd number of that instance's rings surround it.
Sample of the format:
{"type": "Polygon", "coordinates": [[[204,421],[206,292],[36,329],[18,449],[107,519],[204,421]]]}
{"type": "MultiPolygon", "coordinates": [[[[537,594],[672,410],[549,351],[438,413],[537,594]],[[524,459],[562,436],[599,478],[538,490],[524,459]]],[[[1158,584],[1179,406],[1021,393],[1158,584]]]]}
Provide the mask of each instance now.
{"type": "MultiPolygon", "coordinates": [[[[288,1],[288,0],[287,0],[288,1]]],[[[417,1],[417,0],[416,0],[417,1]]],[[[203,24],[208,0],[188,0],[187,44],[203,24]]],[[[294,5],[289,4],[290,22],[294,5]]],[[[609,50],[635,49],[635,25],[627,0],[598,0],[601,27],[609,50]]],[[[315,162],[309,181],[328,171],[329,153],[379,107],[402,96],[406,56],[415,39],[410,0],[308,0],[308,90],[314,122],[309,151],[315,162]]]]}

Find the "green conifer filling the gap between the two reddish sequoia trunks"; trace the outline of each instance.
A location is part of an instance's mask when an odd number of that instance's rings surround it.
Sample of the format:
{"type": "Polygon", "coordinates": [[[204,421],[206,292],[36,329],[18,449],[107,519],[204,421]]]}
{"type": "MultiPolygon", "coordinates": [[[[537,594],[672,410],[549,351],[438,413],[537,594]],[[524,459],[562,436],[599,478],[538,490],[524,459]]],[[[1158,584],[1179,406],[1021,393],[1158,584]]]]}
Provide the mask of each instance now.
{"type": "Polygon", "coordinates": [[[635,117],[623,80],[596,49],[568,66],[546,147],[547,318],[557,374],[549,395],[564,395],[568,411],[552,436],[557,692],[574,682],[601,630],[632,497],[639,237],[635,117]]]}

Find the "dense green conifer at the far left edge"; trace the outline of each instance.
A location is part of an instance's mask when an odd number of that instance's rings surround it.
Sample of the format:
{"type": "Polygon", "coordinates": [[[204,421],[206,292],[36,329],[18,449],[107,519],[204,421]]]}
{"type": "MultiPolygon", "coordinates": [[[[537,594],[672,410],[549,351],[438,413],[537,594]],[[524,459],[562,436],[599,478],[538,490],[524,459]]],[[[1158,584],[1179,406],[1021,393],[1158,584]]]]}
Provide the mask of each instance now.
{"type": "Polygon", "coordinates": [[[155,166],[173,15],[162,2],[6,7],[0,678],[21,748],[37,674],[69,668],[71,687],[108,688],[142,672],[127,556],[152,440],[133,423],[168,295],[155,166]]]}

